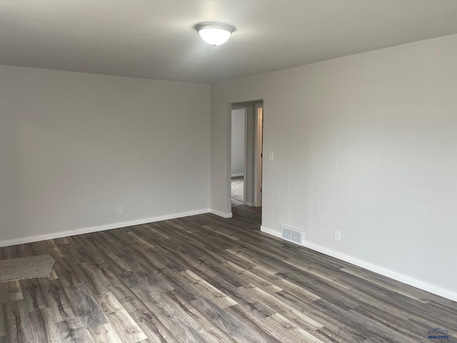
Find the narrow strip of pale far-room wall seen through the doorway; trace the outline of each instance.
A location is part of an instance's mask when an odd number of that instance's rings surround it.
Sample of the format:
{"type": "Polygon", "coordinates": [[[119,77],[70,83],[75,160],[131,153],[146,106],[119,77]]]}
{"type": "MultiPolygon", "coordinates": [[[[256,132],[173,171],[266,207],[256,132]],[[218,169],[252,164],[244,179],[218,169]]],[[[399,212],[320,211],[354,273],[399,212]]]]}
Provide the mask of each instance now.
{"type": "Polygon", "coordinates": [[[231,176],[244,175],[244,129],[246,114],[244,109],[231,111],[231,176]]]}

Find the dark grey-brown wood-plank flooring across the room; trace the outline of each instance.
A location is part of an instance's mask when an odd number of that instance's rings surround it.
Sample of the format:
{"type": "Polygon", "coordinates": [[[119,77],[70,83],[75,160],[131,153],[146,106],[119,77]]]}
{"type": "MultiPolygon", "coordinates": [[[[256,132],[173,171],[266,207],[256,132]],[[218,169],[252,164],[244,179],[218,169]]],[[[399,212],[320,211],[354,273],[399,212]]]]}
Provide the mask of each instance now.
{"type": "Polygon", "coordinates": [[[0,249],[51,277],[0,284],[0,342],[457,341],[457,303],[212,214],[0,249]],[[437,341],[436,339],[433,341],[437,341]]]}

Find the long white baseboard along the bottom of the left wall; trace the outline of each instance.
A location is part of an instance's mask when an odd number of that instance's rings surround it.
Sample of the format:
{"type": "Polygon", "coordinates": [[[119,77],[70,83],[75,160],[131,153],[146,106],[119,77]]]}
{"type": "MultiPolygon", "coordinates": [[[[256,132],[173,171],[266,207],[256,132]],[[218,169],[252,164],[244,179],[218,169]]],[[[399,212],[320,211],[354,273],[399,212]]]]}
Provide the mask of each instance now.
{"type": "Polygon", "coordinates": [[[99,232],[99,231],[104,231],[104,230],[119,229],[121,227],[131,227],[134,225],[161,222],[163,220],[195,216],[197,214],[204,214],[204,213],[209,213],[209,212],[210,212],[209,209],[199,209],[196,211],[181,212],[181,213],[176,213],[176,214],[167,214],[165,216],[154,217],[154,218],[137,219],[137,220],[132,220],[130,222],[113,223],[113,224],[100,225],[97,227],[85,227],[83,229],[54,232],[52,234],[40,234],[37,236],[24,237],[24,238],[19,238],[19,239],[10,239],[8,241],[0,241],[0,247],[9,247],[11,245],[45,241],[46,239],[56,239],[56,238],[62,238],[62,237],[76,236],[77,234],[90,234],[91,232],[99,232]]]}

